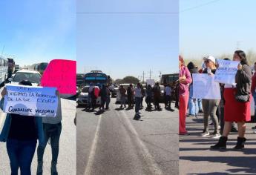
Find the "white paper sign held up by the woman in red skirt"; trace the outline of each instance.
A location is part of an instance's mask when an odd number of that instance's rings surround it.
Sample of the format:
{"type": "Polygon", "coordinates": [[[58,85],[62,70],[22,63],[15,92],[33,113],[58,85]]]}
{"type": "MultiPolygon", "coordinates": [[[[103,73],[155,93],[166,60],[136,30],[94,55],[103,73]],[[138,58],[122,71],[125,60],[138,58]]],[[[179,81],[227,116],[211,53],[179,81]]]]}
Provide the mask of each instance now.
{"type": "Polygon", "coordinates": [[[215,82],[220,82],[226,85],[235,85],[234,76],[237,73],[239,62],[217,59],[219,67],[215,73],[215,82]]]}

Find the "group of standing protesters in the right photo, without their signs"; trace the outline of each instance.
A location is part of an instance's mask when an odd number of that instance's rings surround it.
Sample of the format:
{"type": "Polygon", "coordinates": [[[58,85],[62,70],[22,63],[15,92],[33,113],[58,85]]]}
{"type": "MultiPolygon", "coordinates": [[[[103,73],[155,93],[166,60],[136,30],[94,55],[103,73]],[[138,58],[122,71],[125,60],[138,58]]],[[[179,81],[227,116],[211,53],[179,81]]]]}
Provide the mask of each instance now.
{"type": "MultiPolygon", "coordinates": [[[[229,60],[226,58],[226,60],[229,60]]],[[[235,75],[236,85],[220,84],[221,99],[193,99],[193,77],[192,73],[207,73],[214,76],[218,64],[213,56],[203,58],[203,67],[198,67],[193,62],[185,65],[182,56],[179,56],[179,101],[180,101],[180,135],[188,135],[186,131],[186,113],[197,114],[203,112],[203,132],[200,136],[211,136],[219,139],[217,144],[212,145],[211,149],[226,148],[229,133],[237,131],[234,122],[237,123],[238,136],[237,145],[234,149],[244,148],[246,142],[246,122],[251,120],[250,102],[252,95],[256,99],[256,74],[252,76],[252,70],[246,59],[246,54],[242,50],[234,52],[233,61],[240,62],[237,66],[235,75]],[[200,109],[200,101],[202,107],[200,109]],[[198,106],[198,107],[197,107],[198,106]],[[214,131],[209,133],[209,117],[214,125],[214,131]]]]}

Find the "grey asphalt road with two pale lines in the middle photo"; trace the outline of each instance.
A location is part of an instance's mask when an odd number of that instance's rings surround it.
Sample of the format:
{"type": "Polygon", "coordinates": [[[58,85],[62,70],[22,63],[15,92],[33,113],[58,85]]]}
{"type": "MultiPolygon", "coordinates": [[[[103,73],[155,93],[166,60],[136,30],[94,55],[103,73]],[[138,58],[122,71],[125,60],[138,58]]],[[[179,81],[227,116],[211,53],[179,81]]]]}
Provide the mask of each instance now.
{"type": "Polygon", "coordinates": [[[136,121],[114,102],[102,114],[77,109],[77,174],[178,174],[177,110],[142,110],[136,121]]]}

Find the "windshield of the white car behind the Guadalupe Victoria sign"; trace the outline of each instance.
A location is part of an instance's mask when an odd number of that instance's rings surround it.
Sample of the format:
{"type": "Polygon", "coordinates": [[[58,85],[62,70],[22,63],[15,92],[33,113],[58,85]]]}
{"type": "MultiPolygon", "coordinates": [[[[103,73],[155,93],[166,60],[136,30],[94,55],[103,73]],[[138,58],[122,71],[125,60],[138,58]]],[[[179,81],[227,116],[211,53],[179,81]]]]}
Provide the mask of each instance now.
{"type": "Polygon", "coordinates": [[[13,82],[22,82],[22,80],[28,80],[31,83],[37,83],[41,81],[41,76],[39,73],[16,73],[13,77],[13,82]]]}

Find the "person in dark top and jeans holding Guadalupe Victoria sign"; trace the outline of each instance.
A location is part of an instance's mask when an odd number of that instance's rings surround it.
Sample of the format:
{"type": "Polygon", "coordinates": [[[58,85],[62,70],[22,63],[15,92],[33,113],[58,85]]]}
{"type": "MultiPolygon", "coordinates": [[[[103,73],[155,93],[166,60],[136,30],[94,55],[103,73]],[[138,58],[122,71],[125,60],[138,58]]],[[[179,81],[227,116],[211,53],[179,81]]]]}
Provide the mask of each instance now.
{"type": "MultiPolygon", "coordinates": [[[[22,80],[19,85],[32,86],[31,82],[27,80],[22,80]]],[[[1,109],[3,109],[6,94],[7,90],[4,88],[1,91],[3,97],[1,99],[1,109]]],[[[31,174],[30,166],[36,150],[37,139],[39,139],[39,145],[42,145],[42,117],[7,113],[0,141],[6,142],[11,174],[18,174],[19,168],[21,174],[31,174]]]]}

